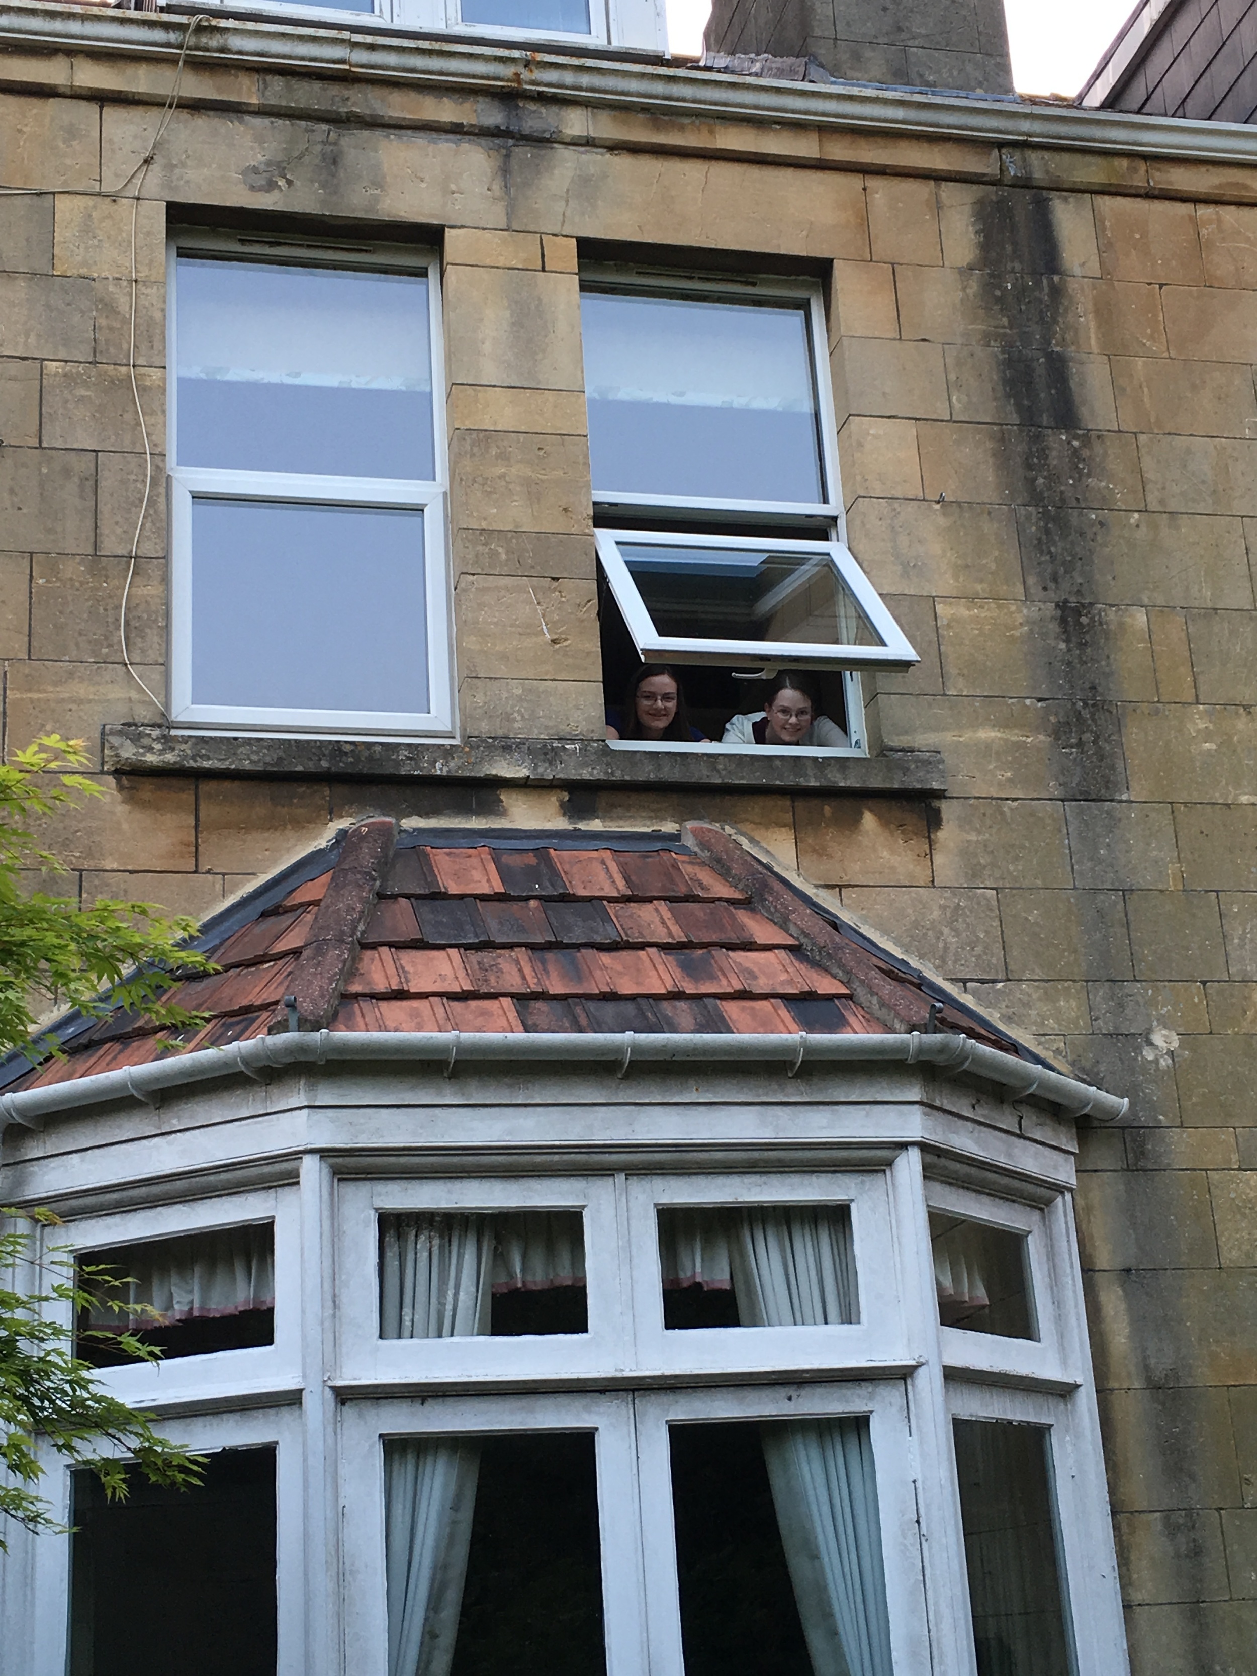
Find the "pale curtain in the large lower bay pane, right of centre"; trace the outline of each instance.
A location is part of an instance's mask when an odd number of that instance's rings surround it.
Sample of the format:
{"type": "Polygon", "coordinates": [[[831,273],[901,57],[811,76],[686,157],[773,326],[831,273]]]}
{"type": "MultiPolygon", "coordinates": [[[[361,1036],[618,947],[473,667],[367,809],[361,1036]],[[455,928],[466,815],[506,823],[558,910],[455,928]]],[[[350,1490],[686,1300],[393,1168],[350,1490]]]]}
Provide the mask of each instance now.
{"type": "Polygon", "coordinates": [[[813,1676],[893,1676],[868,1421],[761,1430],[813,1676]]]}

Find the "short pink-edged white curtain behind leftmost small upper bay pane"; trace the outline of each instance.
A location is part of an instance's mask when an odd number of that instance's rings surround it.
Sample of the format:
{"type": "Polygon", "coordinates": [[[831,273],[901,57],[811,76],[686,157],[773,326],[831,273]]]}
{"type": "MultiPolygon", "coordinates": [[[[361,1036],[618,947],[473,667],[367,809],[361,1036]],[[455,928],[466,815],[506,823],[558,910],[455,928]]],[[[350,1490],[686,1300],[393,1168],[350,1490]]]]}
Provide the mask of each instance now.
{"type": "Polygon", "coordinates": [[[275,1239],[270,1222],[89,1252],[79,1262],[80,1270],[101,1264],[124,1280],[121,1287],[99,1287],[91,1275],[82,1275],[85,1291],[97,1297],[87,1311],[87,1324],[94,1329],[156,1326],[151,1316],[136,1314],[141,1304],[156,1309],[166,1324],[275,1307],[275,1239]],[[131,1314],[111,1304],[122,1304],[131,1314]]]}

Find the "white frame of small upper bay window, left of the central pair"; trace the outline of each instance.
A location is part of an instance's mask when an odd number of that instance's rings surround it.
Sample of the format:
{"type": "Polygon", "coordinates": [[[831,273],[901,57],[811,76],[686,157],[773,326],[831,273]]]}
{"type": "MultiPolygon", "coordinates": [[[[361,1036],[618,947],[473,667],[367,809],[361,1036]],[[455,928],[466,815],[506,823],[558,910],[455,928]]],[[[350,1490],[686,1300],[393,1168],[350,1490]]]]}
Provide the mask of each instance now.
{"type": "Polygon", "coordinates": [[[622,1307],[613,1177],[528,1177],[342,1182],[337,1294],[340,1373],[349,1381],[427,1383],[561,1379],[627,1366],[632,1337],[622,1307]],[[572,1210],[583,1220],[588,1332],[468,1334],[451,1339],[379,1336],[379,1217],[414,1210],[572,1210]]]}

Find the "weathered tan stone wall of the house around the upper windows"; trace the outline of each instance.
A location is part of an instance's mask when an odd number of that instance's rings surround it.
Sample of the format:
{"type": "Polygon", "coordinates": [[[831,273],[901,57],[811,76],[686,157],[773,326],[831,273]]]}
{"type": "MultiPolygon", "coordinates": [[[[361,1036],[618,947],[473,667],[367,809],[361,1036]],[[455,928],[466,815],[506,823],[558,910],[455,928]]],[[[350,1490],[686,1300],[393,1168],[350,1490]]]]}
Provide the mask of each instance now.
{"type": "Polygon", "coordinates": [[[206,915],[379,813],[747,835],[1130,1098],[1079,1123],[1078,1215],[1131,1668],[1249,1669],[1250,136],[297,20],[10,0],[0,40],[3,729],[89,741],[82,900],[206,915]],[[134,297],[164,696],[176,225],[439,250],[458,742],[171,731],[127,672],[134,297]],[[821,283],[850,546],[920,654],[865,677],[866,759],[603,742],[578,287],[617,260],[821,283]]]}

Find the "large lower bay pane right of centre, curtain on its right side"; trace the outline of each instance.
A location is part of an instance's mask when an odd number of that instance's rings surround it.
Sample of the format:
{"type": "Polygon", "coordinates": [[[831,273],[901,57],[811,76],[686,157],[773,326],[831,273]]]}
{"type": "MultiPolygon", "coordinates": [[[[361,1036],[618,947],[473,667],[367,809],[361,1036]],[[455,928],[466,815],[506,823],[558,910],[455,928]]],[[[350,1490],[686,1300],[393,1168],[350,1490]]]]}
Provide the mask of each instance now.
{"type": "Polygon", "coordinates": [[[685,1676],[892,1676],[868,1421],[674,1425],[685,1676]]]}

